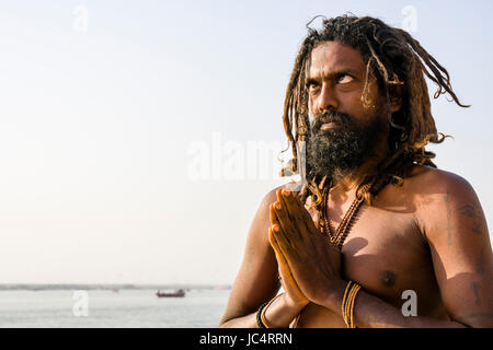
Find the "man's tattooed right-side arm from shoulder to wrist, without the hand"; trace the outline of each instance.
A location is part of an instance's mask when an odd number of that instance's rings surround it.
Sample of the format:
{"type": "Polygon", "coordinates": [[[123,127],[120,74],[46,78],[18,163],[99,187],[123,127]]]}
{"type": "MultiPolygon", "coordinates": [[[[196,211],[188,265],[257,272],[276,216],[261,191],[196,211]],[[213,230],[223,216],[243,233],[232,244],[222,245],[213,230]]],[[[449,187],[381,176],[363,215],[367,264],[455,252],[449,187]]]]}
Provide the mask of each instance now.
{"type": "MultiPolygon", "coordinates": [[[[465,179],[445,172],[436,177],[426,186],[435,194],[419,209],[420,225],[451,322],[404,317],[400,310],[362,291],[355,305],[358,327],[493,327],[493,258],[481,205],[465,179]]],[[[341,302],[344,287],[336,292],[341,302]]]]}

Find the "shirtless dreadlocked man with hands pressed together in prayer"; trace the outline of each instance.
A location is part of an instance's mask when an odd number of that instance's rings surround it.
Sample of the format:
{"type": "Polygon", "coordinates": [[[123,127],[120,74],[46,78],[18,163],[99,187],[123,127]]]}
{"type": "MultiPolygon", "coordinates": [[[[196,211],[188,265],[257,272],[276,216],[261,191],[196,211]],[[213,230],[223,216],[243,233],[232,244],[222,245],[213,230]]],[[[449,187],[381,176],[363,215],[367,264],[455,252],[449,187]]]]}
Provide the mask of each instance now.
{"type": "Polygon", "coordinates": [[[355,16],[309,30],[284,113],[288,171],[305,141],[307,182],[264,198],[221,327],[493,326],[484,214],[425,150],[445,137],[424,75],[463,106],[404,31],[355,16]]]}

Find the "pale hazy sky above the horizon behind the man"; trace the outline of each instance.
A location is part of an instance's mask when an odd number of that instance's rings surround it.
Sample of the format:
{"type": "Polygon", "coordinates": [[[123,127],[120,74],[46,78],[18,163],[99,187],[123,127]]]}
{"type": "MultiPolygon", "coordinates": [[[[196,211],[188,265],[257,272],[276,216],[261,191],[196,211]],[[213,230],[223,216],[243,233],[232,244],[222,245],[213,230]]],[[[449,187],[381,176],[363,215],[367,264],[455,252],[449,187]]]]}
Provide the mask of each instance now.
{"type": "Polygon", "coordinates": [[[472,105],[433,102],[455,138],[436,163],[491,224],[491,1],[0,1],[0,283],[232,283],[257,206],[287,182],[268,150],[286,145],[306,23],[402,27],[409,9],[472,105]]]}

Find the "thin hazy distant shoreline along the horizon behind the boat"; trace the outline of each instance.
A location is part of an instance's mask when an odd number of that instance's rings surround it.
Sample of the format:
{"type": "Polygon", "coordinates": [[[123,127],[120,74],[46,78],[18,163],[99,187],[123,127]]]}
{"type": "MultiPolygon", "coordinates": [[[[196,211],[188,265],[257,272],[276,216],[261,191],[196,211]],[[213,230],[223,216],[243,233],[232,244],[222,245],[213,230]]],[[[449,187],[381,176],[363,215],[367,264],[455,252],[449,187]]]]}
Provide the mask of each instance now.
{"type": "Polygon", "coordinates": [[[169,290],[169,289],[210,289],[229,290],[229,284],[105,284],[105,283],[4,283],[0,284],[0,291],[49,291],[49,290],[169,290]]]}

